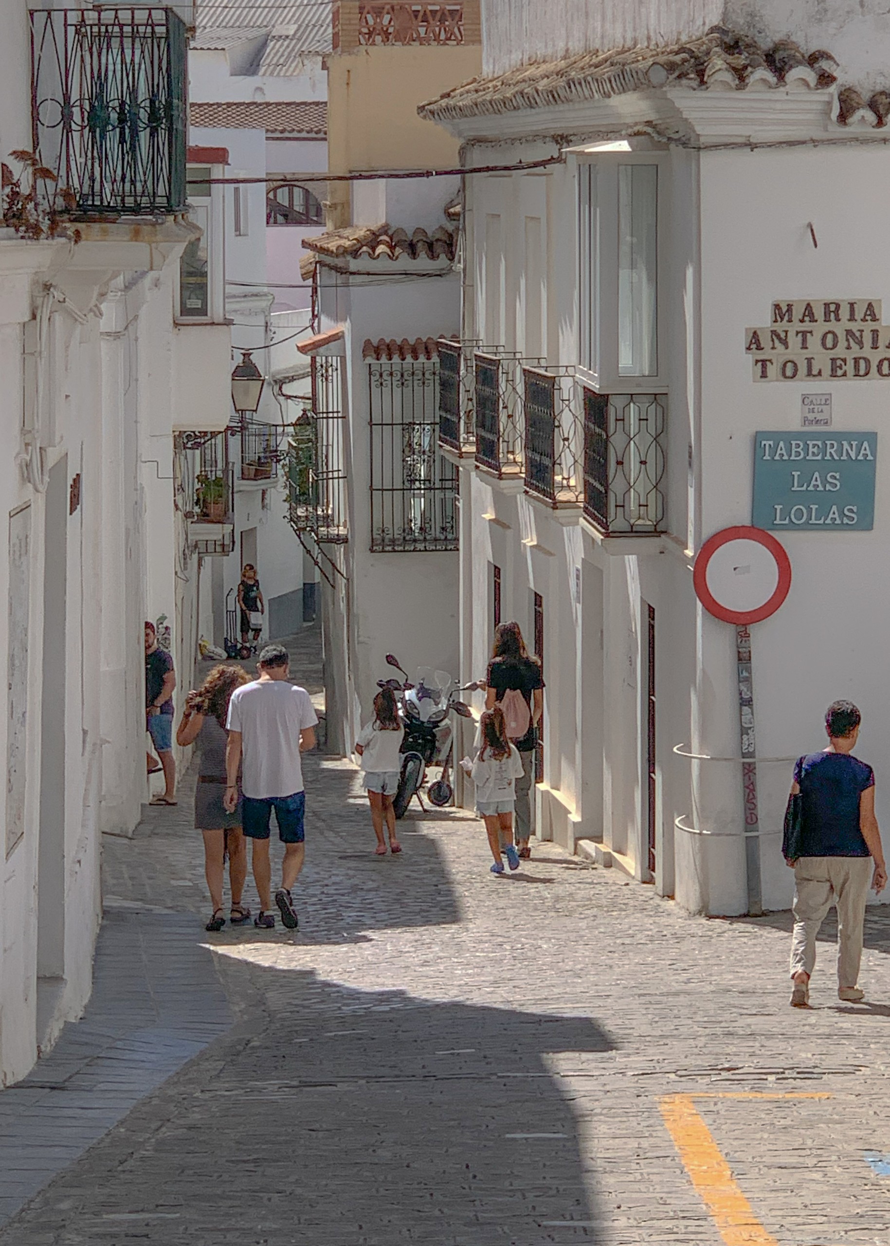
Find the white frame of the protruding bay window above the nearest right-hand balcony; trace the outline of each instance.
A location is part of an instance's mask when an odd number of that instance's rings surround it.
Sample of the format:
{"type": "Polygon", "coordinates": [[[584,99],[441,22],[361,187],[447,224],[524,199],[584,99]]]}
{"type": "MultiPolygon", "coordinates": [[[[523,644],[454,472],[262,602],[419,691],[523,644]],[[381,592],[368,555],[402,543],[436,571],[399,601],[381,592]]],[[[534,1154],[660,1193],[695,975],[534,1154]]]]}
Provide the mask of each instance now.
{"type": "Polygon", "coordinates": [[[669,167],[663,152],[578,153],[577,358],[582,378],[602,394],[668,392],[667,204],[669,167]],[[652,376],[618,371],[618,167],[654,164],[657,201],[657,366],[652,376]]]}

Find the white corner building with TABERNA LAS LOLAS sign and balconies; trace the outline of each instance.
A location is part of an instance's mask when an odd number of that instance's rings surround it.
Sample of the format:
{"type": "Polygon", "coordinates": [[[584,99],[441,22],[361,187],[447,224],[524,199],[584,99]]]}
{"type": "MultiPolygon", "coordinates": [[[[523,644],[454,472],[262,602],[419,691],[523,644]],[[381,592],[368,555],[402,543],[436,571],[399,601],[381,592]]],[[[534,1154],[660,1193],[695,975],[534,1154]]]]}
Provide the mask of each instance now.
{"type": "Polygon", "coordinates": [[[538,835],[688,910],[745,912],[735,630],[692,568],[713,533],[770,527],[793,583],[752,627],[753,872],[788,907],[790,765],[833,699],[860,705],[890,809],[883,6],[484,0],[482,29],[482,75],[420,108],[466,169],[440,422],[461,674],[519,619],[547,685],[538,835]],[[814,405],[823,426],[801,427],[814,405]],[[790,461],[853,459],[864,434],[861,481],[790,461]]]}

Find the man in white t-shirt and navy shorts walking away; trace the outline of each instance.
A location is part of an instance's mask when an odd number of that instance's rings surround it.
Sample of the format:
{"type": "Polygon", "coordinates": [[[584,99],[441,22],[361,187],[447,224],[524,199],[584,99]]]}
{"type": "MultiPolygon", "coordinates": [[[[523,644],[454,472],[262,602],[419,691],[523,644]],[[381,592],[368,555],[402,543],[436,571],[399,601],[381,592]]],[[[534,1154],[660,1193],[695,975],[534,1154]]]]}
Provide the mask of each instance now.
{"type": "Polygon", "coordinates": [[[318,716],[305,688],[288,679],[289,659],[280,644],[259,654],[259,679],[236,688],[228,706],[224,805],[238,805],[238,766],[242,766],[242,830],[253,840],[253,878],[261,911],[254,926],[274,926],[269,892],[269,822],[275,811],[278,837],[284,845],[282,886],[275,903],[288,930],[297,928],[290,888],[305,856],[303,766],[300,751],[315,748],[318,716]]]}

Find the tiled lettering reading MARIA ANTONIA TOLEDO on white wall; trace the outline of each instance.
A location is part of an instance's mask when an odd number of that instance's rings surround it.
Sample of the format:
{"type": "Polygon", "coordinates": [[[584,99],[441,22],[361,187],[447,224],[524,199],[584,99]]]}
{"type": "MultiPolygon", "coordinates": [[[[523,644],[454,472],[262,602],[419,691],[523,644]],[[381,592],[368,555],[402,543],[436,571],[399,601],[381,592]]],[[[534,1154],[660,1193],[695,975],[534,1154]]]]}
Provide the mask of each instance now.
{"type": "Polygon", "coordinates": [[[880,299],[774,303],[772,324],[744,336],[755,381],[890,380],[880,299]]]}

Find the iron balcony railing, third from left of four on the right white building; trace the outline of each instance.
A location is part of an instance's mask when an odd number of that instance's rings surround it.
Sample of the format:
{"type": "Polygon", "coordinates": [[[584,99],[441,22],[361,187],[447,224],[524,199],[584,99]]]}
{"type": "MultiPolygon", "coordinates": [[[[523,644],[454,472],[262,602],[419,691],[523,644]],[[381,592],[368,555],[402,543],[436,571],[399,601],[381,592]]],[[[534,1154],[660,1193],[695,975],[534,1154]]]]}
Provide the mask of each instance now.
{"type": "Polygon", "coordinates": [[[582,389],[572,368],[524,368],[525,487],[553,506],[583,501],[582,389]]]}

